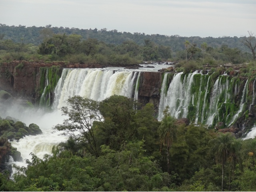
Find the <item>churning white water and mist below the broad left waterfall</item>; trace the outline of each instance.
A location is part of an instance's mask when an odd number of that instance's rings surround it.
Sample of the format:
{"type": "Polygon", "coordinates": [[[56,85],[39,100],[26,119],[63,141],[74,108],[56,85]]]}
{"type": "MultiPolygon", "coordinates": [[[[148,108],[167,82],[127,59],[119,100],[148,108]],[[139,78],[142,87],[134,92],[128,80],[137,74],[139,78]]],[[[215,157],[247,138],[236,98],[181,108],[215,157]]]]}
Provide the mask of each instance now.
{"type": "Polygon", "coordinates": [[[59,111],[45,113],[43,110],[31,110],[24,111],[22,114],[20,114],[11,109],[9,113],[9,116],[26,123],[26,126],[29,126],[31,123],[35,123],[42,130],[41,135],[29,135],[20,139],[19,141],[11,142],[12,146],[21,152],[23,159],[22,162],[14,162],[18,166],[26,166],[25,160],[31,160],[31,152],[36,154],[39,158],[43,158],[44,154],[51,153],[52,146],[67,140],[67,137],[59,135],[60,132],[52,133],[52,127],[58,123],[62,123],[64,119],[59,111]]]}

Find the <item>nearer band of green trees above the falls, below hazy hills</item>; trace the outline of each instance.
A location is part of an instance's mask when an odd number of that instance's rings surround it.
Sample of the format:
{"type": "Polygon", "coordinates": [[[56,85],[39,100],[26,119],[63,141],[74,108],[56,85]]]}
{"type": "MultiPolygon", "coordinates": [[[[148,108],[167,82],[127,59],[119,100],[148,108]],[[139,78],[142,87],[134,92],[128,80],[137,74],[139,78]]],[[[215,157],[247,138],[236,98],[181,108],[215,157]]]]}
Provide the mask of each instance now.
{"type": "MultiPolygon", "coordinates": [[[[97,30],[96,32],[98,33],[97,30]]],[[[103,30],[101,33],[105,32],[106,30],[103,30]]],[[[42,28],[39,34],[41,43],[38,46],[32,43],[26,44],[24,38],[20,38],[19,42],[4,40],[5,35],[2,34],[0,36],[0,61],[8,62],[16,59],[102,65],[138,64],[143,61],[184,61],[185,63],[193,61],[196,65],[202,66],[206,63],[221,65],[255,60],[256,40],[251,32],[248,38],[240,42],[251,53],[243,52],[239,48],[230,48],[228,44],[214,48],[207,42],[198,44],[199,39],[197,42],[190,42],[189,38],[182,42],[181,50],[174,52],[172,46],[158,44],[150,38],[145,38],[142,44],[131,39],[120,42],[120,44],[107,43],[101,41],[100,38],[84,39],[79,34],[55,34],[51,26],[42,28]]]]}

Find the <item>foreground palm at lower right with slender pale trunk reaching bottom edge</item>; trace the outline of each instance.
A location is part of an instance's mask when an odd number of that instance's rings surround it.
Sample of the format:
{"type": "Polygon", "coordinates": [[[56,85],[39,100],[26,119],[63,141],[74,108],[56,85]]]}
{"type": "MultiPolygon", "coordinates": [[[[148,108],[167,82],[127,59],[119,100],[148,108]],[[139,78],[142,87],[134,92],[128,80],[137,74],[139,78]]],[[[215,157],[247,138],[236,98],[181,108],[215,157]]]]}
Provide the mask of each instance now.
{"type": "Polygon", "coordinates": [[[234,156],[234,143],[235,138],[230,133],[219,133],[218,137],[211,140],[213,144],[212,150],[215,153],[216,161],[222,164],[222,184],[221,188],[223,191],[223,183],[224,183],[224,165],[226,161],[234,156]]]}

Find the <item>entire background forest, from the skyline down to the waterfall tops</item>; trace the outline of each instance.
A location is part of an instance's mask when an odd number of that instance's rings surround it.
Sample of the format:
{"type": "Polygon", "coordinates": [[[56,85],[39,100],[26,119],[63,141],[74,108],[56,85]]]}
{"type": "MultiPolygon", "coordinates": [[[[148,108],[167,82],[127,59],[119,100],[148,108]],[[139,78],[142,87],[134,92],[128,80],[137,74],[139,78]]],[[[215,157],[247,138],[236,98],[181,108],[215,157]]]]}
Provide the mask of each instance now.
{"type": "Polygon", "coordinates": [[[0,61],[66,61],[102,65],[142,61],[246,63],[255,59],[255,37],[200,38],[77,29],[6,26],[0,24],[0,61]],[[252,46],[246,42],[252,42],[252,46]],[[250,47],[251,46],[251,47],[250,47]]]}

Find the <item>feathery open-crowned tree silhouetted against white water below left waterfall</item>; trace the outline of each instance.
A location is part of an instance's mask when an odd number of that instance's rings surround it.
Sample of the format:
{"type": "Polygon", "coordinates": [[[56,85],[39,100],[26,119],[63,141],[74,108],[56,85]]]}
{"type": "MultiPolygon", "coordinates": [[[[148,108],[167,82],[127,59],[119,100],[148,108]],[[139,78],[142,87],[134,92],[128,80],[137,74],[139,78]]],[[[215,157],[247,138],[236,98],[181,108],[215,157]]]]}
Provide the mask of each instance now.
{"type": "Polygon", "coordinates": [[[74,96],[69,98],[68,107],[62,107],[62,115],[68,117],[63,124],[53,127],[58,131],[63,131],[63,135],[68,135],[82,143],[82,145],[95,156],[99,156],[99,148],[94,137],[92,125],[94,121],[102,122],[104,118],[98,110],[98,102],[91,99],[74,96]]]}

